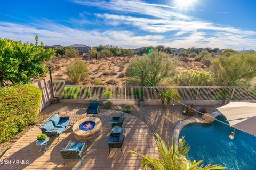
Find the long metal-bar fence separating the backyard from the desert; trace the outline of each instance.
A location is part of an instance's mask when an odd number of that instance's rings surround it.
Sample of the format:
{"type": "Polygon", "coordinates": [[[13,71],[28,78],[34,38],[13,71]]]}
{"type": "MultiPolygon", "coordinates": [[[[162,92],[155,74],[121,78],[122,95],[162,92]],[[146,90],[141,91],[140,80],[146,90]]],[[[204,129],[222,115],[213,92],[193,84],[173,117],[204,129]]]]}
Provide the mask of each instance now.
{"type": "MultiPolygon", "coordinates": [[[[98,96],[108,100],[139,100],[140,86],[78,86],[66,85],[64,81],[53,82],[54,96],[60,99],[89,99],[98,96]]],[[[231,101],[256,101],[256,87],[220,86],[144,86],[143,99],[158,100],[163,90],[177,89],[180,100],[221,101],[224,97],[231,101]]]]}

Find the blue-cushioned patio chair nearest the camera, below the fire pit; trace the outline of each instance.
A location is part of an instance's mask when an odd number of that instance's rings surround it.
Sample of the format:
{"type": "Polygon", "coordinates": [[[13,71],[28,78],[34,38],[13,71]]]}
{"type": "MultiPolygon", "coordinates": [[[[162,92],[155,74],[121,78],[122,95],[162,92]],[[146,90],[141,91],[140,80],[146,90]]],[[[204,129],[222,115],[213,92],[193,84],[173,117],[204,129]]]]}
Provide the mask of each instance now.
{"type": "Polygon", "coordinates": [[[86,142],[72,142],[70,140],[65,148],[60,149],[64,165],[66,164],[66,159],[80,159],[80,164],[82,164],[85,151],[88,151],[86,142]]]}

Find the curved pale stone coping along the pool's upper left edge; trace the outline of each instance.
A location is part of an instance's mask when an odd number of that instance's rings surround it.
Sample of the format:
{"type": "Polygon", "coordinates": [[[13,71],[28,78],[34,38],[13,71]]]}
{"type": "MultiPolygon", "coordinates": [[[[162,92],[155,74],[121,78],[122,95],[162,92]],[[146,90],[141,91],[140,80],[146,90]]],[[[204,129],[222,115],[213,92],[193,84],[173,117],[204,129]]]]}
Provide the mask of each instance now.
{"type": "MultiPolygon", "coordinates": [[[[221,115],[222,113],[219,111],[215,111],[210,114],[213,118],[215,118],[215,117],[221,115]]],[[[185,120],[182,120],[179,123],[177,123],[177,125],[175,126],[175,128],[172,132],[172,139],[175,139],[175,141],[177,142],[179,140],[179,135],[180,135],[181,130],[186,125],[188,125],[190,123],[211,123],[211,122],[206,122],[202,118],[186,118],[185,120]]],[[[172,141],[171,141],[171,143],[172,143],[172,141]]]]}

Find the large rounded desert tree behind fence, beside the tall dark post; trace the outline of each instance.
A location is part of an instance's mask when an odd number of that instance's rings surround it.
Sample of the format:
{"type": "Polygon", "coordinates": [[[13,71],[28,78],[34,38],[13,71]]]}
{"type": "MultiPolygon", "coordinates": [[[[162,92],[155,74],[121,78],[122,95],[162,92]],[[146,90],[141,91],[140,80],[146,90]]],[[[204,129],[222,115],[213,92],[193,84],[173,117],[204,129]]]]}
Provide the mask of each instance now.
{"type": "MultiPolygon", "coordinates": [[[[150,81],[147,84],[157,85],[163,78],[174,75],[178,64],[177,58],[172,59],[164,52],[154,51],[151,55],[134,57],[129,63],[126,73],[129,77],[140,78],[141,70],[143,70],[145,77],[150,81]]],[[[146,84],[146,81],[143,83],[146,84]]]]}

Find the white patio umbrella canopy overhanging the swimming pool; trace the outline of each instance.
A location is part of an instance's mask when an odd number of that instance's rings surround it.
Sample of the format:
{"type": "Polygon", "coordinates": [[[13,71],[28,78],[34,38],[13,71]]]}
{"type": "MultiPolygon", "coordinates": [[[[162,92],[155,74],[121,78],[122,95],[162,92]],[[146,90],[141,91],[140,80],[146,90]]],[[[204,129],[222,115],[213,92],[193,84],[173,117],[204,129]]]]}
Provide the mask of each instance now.
{"type": "Polygon", "coordinates": [[[217,109],[227,118],[230,126],[256,136],[256,103],[230,102],[217,109]]]}

